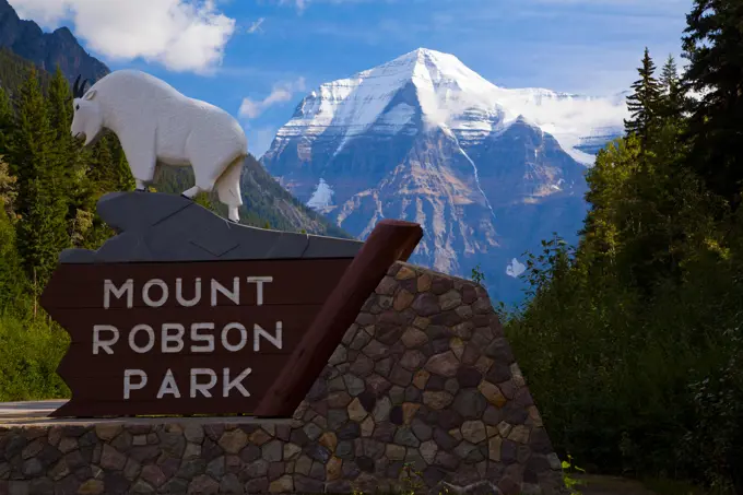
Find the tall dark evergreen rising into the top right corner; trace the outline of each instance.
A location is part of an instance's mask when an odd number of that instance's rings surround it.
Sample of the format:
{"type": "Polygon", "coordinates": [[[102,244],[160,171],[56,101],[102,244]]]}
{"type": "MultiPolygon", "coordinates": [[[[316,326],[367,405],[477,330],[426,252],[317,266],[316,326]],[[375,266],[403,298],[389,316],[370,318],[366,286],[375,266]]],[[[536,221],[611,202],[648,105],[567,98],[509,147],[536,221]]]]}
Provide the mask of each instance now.
{"type": "Polygon", "coordinates": [[[684,84],[700,95],[689,101],[688,163],[735,209],[743,186],[743,3],[695,0],[686,23],[684,84]]]}

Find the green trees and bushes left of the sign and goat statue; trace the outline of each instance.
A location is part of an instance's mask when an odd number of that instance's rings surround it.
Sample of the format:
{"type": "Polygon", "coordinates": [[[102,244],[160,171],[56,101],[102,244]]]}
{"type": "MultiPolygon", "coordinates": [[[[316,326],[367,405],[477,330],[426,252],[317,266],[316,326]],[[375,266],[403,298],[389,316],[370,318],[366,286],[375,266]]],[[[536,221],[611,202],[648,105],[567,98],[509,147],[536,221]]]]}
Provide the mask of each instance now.
{"type": "Polygon", "coordinates": [[[116,140],[92,151],[72,140],[70,89],[59,71],[49,76],[0,51],[0,400],[64,397],[56,368],[67,333],[38,295],[61,249],[110,236],[95,203],[126,187],[128,167],[116,140]]]}

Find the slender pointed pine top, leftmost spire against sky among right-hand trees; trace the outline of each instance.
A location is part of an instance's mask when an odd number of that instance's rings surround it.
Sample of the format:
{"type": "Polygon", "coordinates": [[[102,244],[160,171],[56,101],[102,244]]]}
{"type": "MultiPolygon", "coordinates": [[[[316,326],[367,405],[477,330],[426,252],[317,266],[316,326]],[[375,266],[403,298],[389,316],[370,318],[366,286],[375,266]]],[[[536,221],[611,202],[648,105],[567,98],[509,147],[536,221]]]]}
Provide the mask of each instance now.
{"type": "Polygon", "coordinates": [[[654,78],[656,66],[650,58],[650,51],[645,48],[642,66],[637,69],[640,79],[632,85],[634,93],[627,97],[632,119],[625,120],[624,127],[627,134],[636,134],[647,149],[650,134],[656,125],[658,102],[660,99],[660,84],[654,78]]]}

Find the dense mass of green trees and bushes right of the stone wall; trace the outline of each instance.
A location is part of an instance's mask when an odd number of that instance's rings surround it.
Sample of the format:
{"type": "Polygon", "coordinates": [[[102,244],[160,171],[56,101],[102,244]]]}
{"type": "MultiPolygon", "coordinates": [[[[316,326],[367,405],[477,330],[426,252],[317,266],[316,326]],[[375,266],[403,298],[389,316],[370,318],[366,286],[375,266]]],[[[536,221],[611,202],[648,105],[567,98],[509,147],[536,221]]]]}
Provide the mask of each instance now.
{"type": "Polygon", "coordinates": [[[646,50],[627,135],[587,175],[578,246],[544,241],[506,318],[559,452],[720,495],[743,493],[741,21],[740,2],[697,0],[681,81],[672,58],[656,81],[646,50]],[[689,89],[710,93],[689,104],[689,89]]]}

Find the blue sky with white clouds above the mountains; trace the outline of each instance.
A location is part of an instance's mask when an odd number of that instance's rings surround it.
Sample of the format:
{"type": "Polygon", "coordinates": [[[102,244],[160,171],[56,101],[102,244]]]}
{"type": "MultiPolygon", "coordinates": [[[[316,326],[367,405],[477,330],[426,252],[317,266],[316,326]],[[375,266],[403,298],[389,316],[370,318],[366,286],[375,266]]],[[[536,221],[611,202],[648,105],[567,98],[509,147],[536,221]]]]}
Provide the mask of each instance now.
{"type": "Polygon", "coordinates": [[[418,47],[453,54],[502,86],[624,91],[645,46],[657,59],[680,54],[692,0],[10,3],[47,30],[69,26],[114,70],[144,70],[235,116],[248,98],[239,119],[260,155],[306,92],[418,47]]]}

